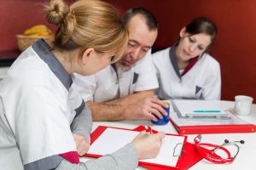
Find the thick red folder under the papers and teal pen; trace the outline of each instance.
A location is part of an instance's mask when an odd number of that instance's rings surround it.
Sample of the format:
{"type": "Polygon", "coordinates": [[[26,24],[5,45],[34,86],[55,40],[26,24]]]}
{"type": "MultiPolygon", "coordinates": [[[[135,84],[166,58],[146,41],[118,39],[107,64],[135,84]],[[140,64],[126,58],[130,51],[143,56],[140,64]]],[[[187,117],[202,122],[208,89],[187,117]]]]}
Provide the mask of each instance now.
{"type": "Polygon", "coordinates": [[[256,130],[253,124],[178,126],[171,117],[170,121],[178,134],[255,133],[256,130]]]}

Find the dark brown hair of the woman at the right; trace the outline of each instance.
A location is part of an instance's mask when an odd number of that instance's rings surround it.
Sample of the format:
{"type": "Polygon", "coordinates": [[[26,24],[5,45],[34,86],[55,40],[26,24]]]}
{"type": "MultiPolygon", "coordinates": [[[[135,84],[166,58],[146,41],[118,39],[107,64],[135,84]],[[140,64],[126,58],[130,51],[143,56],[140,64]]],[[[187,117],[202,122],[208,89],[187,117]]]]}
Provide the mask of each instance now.
{"type": "Polygon", "coordinates": [[[206,17],[198,17],[189,22],[189,24],[186,26],[186,32],[188,32],[190,35],[200,33],[207,34],[211,37],[210,45],[212,45],[212,42],[214,42],[215,37],[217,36],[218,28],[212,20],[209,20],[206,17]]]}

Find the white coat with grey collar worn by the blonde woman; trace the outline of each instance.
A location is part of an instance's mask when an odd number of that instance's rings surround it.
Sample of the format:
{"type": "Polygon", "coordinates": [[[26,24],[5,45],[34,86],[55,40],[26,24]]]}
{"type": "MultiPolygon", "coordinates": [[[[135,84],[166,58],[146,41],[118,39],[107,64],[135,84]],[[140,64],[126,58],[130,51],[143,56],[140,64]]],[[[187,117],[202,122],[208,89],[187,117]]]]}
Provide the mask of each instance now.
{"type": "Polygon", "coordinates": [[[27,48],[0,84],[0,168],[4,170],[77,152],[70,124],[84,102],[56,59],[44,58],[46,43],[40,41],[39,52],[27,48]]]}

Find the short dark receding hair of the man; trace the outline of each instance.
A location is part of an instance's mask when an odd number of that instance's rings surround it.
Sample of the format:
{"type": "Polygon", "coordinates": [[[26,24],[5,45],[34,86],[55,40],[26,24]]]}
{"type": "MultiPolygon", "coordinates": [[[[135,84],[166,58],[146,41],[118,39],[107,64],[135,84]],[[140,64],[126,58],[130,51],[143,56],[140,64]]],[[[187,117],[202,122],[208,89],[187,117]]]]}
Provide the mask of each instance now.
{"type": "Polygon", "coordinates": [[[158,22],[154,17],[154,14],[151,14],[147,9],[142,7],[130,8],[123,16],[123,21],[125,26],[128,25],[131,18],[137,14],[141,14],[146,20],[146,25],[150,31],[158,29],[158,22]]]}

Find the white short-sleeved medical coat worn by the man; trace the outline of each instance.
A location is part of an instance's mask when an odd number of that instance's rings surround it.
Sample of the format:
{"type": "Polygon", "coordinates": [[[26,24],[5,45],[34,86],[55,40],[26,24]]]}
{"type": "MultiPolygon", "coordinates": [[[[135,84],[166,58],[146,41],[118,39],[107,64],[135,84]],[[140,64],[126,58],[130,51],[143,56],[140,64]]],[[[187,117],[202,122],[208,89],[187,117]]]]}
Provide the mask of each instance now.
{"type": "Polygon", "coordinates": [[[103,102],[135,92],[158,88],[151,50],[143,59],[124,70],[109,65],[92,76],[74,74],[73,82],[84,101],[103,102]]]}

